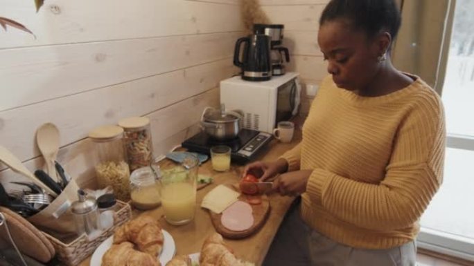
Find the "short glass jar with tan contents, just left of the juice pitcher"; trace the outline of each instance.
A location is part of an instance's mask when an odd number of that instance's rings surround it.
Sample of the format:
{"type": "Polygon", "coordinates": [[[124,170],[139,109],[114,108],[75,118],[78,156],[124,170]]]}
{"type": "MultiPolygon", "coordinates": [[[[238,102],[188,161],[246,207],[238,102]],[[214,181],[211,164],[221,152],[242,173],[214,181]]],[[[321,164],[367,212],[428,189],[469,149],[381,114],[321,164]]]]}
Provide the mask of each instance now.
{"type": "Polygon", "coordinates": [[[141,167],[130,175],[132,205],[141,210],[161,204],[160,183],[151,167],[141,167]]]}

